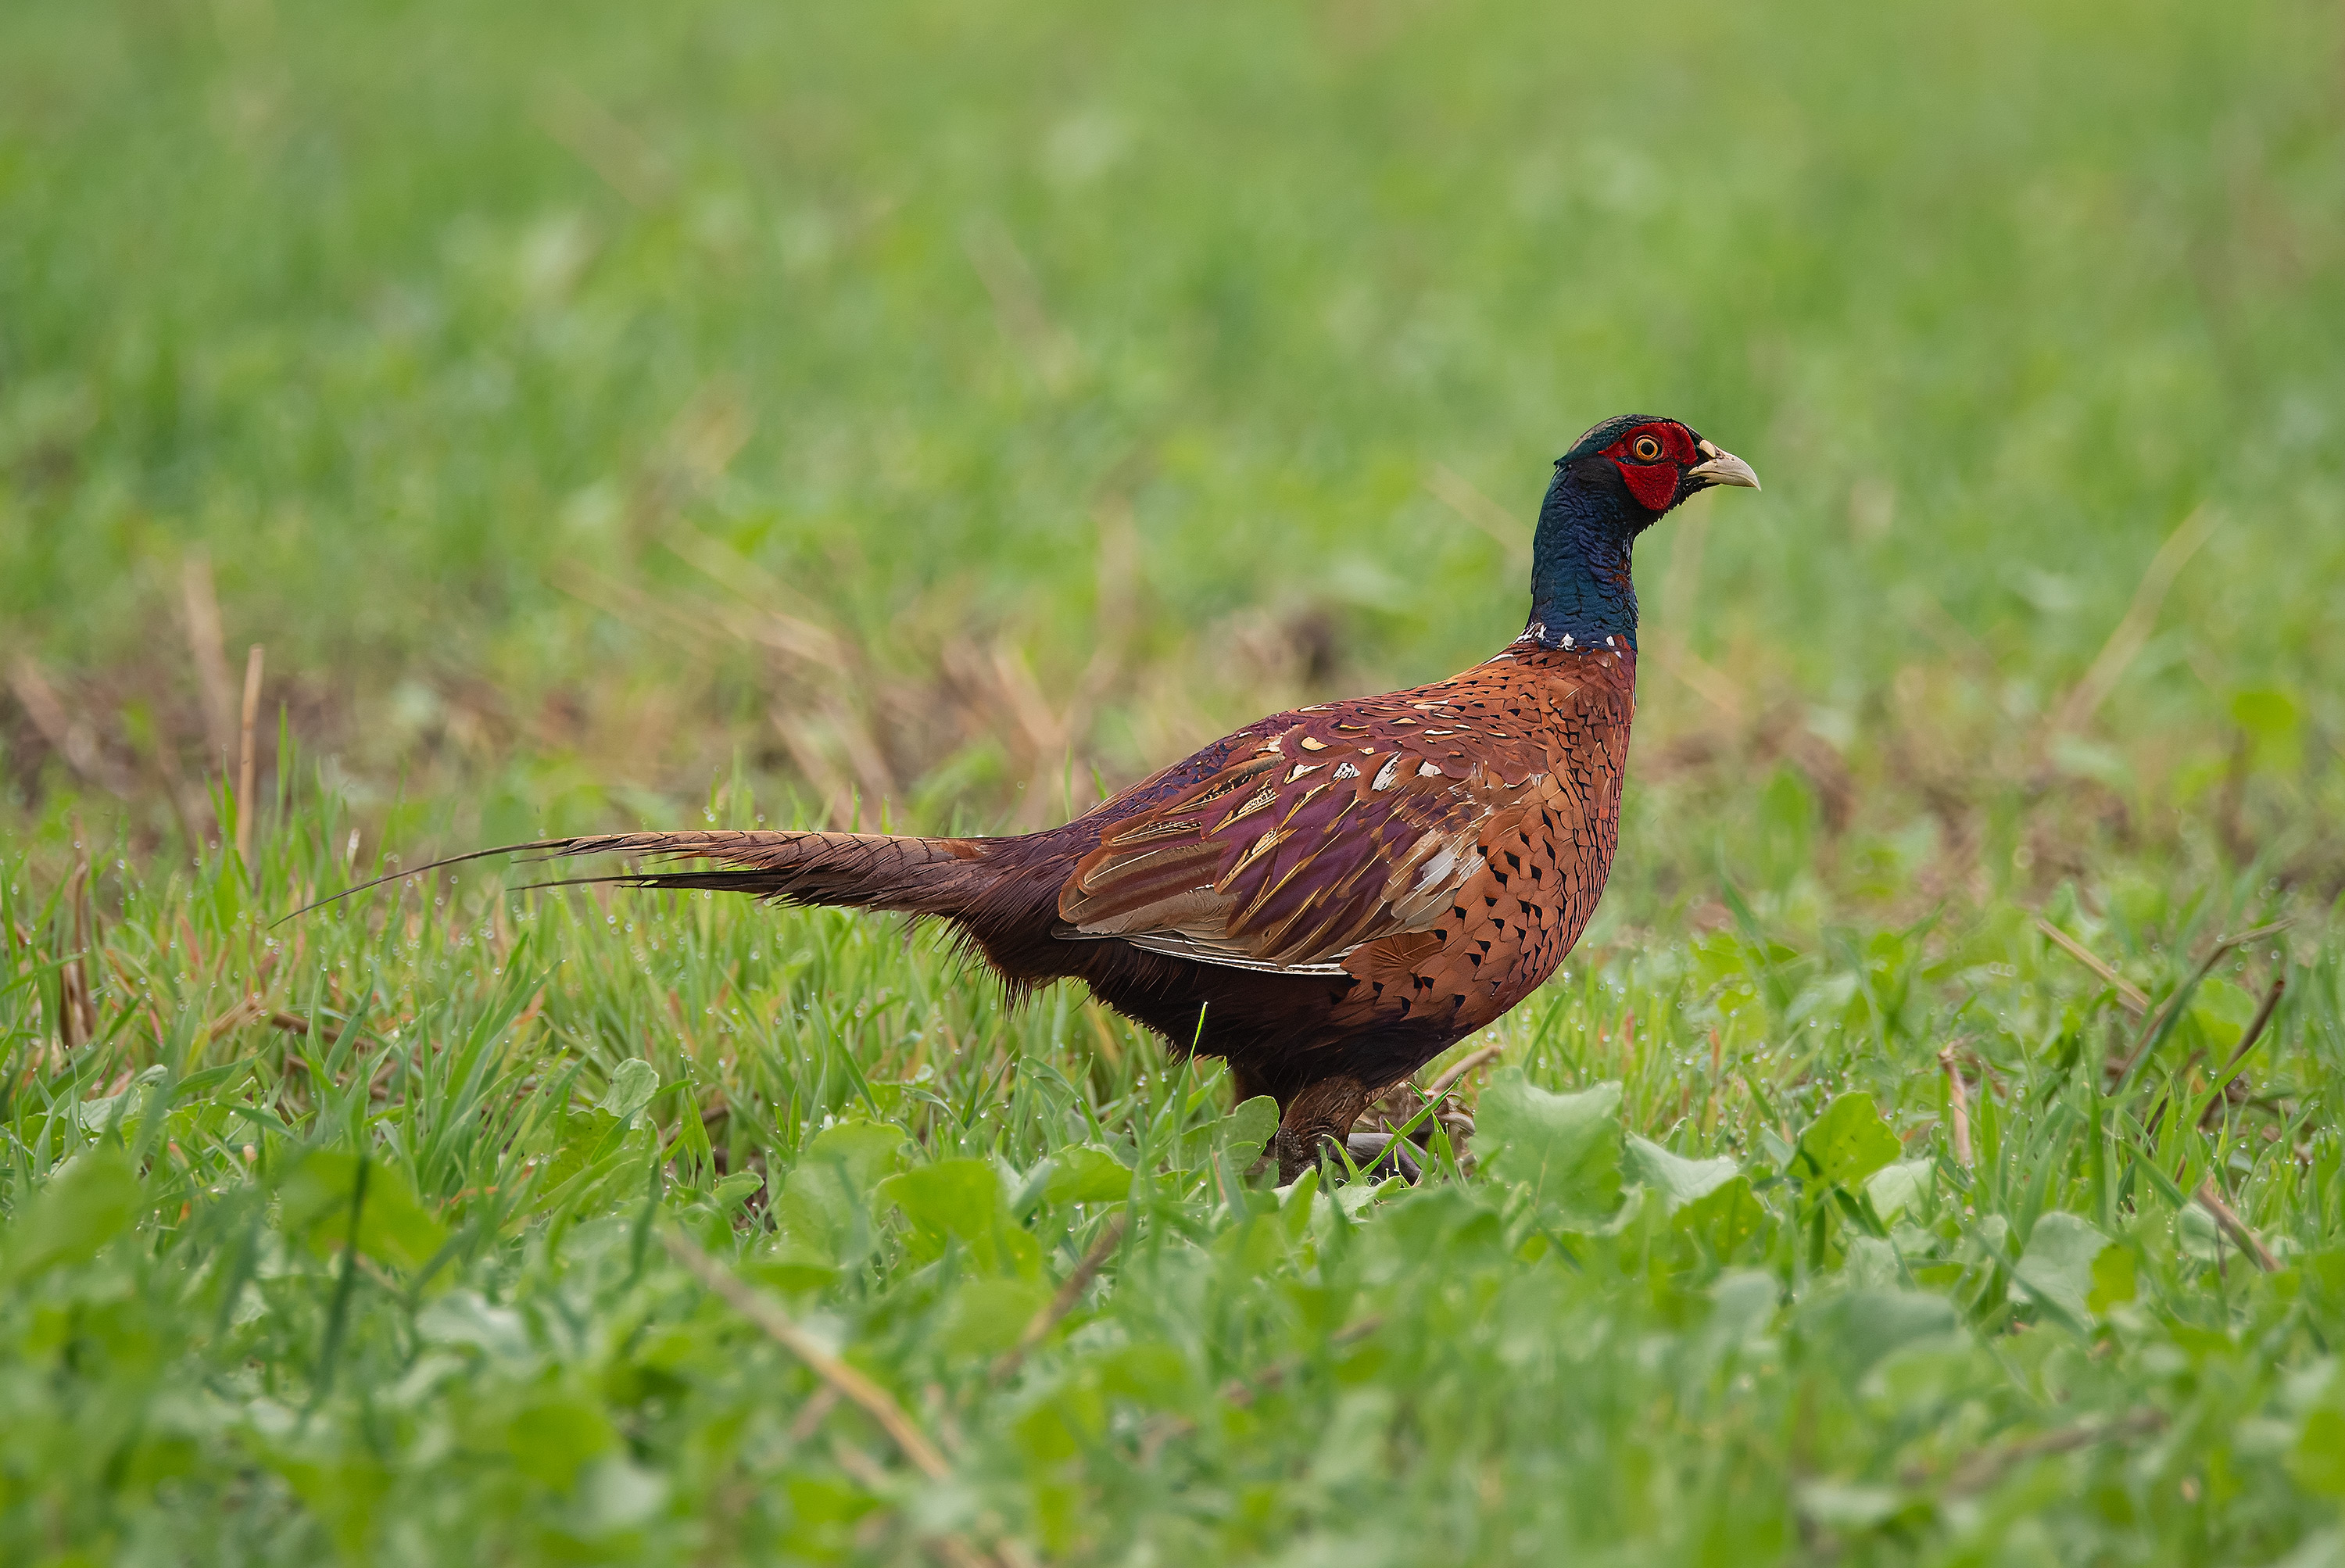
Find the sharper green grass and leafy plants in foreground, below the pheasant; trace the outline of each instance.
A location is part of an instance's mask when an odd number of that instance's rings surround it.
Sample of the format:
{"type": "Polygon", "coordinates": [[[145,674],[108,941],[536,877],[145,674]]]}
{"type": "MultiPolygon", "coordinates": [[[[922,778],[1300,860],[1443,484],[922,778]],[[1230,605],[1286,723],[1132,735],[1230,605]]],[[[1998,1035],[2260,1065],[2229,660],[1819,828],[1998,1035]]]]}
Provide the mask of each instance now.
{"type": "MultiPolygon", "coordinates": [[[[70,909],[7,891],[14,1561],[2333,1540],[2324,928],[2183,989],[2122,1092],[2101,1062],[2141,1027],[2010,909],[1613,947],[1494,1031],[1480,1172],[1442,1146],[1414,1191],[1276,1195],[1243,1179],[1264,1123],[1219,1069],[1067,989],[1004,1015],[886,921],[711,895],[471,877],[256,919],[338,884],[342,841],[307,804],[253,891],[232,860],[124,877],[80,959],[103,1038],[73,1055],[40,1010],[70,909]],[[2230,1104],[2209,1064],[2268,977],[2286,1001],[2230,1104]],[[232,1013],[251,984],[305,1034],[232,1013]],[[2179,1202],[2202,1181],[2277,1273],[2179,1202]],[[997,1378],[1112,1214],[1100,1282],[997,1378]],[[666,1235],[893,1390],[950,1479],[825,1409],[666,1235]]],[[[2263,912],[2221,888],[2054,909],[2153,1008],[2263,912]]]]}

